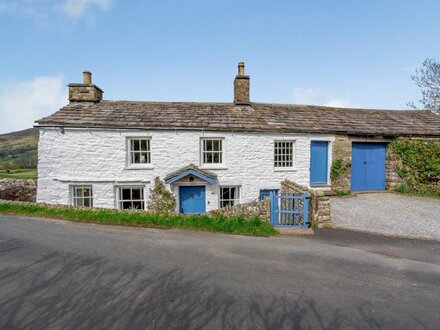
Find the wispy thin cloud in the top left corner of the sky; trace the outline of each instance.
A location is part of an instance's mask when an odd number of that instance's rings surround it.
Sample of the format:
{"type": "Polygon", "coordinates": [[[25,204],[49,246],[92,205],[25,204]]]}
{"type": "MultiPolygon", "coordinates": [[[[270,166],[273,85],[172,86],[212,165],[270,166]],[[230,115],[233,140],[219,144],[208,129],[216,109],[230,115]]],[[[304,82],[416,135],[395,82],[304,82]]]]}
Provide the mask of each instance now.
{"type": "Polygon", "coordinates": [[[95,9],[104,11],[110,6],[111,0],[0,0],[0,14],[31,18],[41,23],[60,14],[77,20],[95,9]]]}

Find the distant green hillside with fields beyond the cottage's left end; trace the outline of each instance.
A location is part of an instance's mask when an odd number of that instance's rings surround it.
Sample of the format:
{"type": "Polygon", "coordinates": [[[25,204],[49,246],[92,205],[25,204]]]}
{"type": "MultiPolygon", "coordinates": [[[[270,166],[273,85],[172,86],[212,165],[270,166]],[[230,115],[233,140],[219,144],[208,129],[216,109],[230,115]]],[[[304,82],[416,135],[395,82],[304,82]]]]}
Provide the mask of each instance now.
{"type": "Polygon", "coordinates": [[[36,128],[1,134],[0,176],[7,176],[5,170],[35,169],[38,158],[37,149],[38,130],[36,128]]]}

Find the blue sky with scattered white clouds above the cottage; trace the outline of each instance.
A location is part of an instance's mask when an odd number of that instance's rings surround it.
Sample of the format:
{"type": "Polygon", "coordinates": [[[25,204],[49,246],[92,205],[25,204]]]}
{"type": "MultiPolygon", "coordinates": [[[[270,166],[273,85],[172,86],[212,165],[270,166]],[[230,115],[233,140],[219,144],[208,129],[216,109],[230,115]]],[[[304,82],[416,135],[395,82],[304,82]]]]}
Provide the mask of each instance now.
{"type": "Polygon", "coordinates": [[[0,133],[68,103],[82,71],[110,100],[408,109],[440,59],[440,1],[0,0],[0,133]]]}

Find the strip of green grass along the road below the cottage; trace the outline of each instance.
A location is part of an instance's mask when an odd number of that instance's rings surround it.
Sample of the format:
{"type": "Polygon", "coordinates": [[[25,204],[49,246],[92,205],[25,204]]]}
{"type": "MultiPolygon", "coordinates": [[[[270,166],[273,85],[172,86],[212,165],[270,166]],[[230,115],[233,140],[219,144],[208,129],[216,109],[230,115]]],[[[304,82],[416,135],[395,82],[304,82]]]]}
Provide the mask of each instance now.
{"type": "Polygon", "coordinates": [[[263,222],[259,218],[246,220],[242,217],[166,215],[141,211],[85,209],[13,202],[0,202],[0,213],[14,213],[97,224],[154,228],[185,228],[254,236],[276,235],[275,229],[273,229],[269,223],[263,222]]]}

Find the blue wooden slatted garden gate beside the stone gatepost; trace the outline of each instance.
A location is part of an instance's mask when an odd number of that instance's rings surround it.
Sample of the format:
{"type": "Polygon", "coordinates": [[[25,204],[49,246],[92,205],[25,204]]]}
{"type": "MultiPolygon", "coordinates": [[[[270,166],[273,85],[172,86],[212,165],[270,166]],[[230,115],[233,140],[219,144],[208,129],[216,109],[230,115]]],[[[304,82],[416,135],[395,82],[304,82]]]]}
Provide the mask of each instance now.
{"type": "Polygon", "coordinates": [[[270,222],[274,227],[309,227],[309,194],[271,192],[270,222]]]}

